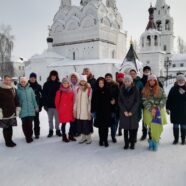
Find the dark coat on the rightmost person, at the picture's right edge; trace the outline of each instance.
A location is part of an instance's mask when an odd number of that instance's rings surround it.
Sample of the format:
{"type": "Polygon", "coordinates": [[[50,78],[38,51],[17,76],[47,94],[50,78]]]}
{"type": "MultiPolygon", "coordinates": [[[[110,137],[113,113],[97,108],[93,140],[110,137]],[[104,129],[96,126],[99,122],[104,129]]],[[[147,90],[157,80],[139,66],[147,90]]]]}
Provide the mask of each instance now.
{"type": "Polygon", "coordinates": [[[180,87],[175,84],[171,88],[166,108],[170,110],[170,118],[173,124],[186,125],[186,85],[180,87]]]}

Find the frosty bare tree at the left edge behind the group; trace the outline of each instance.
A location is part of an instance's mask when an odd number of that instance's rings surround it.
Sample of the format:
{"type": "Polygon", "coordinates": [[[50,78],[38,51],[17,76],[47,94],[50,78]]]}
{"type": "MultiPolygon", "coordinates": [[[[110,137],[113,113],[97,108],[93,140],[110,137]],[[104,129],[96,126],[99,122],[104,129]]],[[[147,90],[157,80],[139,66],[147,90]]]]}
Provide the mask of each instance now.
{"type": "Polygon", "coordinates": [[[0,76],[7,73],[14,74],[13,64],[11,63],[14,36],[10,34],[11,30],[11,26],[0,26],[0,76]]]}

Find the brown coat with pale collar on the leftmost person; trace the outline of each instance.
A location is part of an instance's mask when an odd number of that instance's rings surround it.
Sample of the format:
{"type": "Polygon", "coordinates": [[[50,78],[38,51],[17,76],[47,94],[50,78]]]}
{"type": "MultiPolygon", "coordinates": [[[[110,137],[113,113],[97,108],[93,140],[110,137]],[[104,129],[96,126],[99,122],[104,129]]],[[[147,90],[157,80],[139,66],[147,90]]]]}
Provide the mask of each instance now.
{"type": "Polygon", "coordinates": [[[18,99],[16,90],[13,87],[0,85],[0,109],[3,118],[9,118],[16,115],[16,107],[18,107],[18,99]]]}

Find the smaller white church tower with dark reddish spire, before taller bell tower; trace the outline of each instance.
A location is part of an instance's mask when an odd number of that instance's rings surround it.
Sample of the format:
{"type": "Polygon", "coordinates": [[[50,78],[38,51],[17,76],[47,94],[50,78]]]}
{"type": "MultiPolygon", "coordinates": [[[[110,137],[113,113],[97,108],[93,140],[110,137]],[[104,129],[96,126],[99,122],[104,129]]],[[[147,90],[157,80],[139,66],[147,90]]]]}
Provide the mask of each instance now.
{"type": "Polygon", "coordinates": [[[140,38],[140,52],[138,54],[143,66],[150,66],[152,73],[157,76],[164,75],[165,52],[161,49],[161,32],[157,30],[154,21],[155,8],[149,8],[149,22],[145,32],[140,38]]]}

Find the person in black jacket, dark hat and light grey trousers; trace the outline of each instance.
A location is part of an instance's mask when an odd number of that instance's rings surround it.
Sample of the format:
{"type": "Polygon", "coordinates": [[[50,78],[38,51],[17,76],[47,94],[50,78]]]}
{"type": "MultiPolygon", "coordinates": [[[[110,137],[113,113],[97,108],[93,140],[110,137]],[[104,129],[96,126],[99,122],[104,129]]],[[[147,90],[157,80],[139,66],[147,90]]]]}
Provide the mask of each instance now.
{"type": "Polygon", "coordinates": [[[62,136],[60,129],[59,129],[59,119],[58,119],[58,113],[55,107],[55,97],[56,92],[60,88],[60,82],[58,77],[57,71],[51,71],[50,75],[47,79],[47,82],[43,86],[43,106],[44,109],[47,111],[48,119],[49,119],[49,134],[48,137],[53,136],[53,119],[55,118],[55,129],[56,129],[56,135],[62,136]]]}

